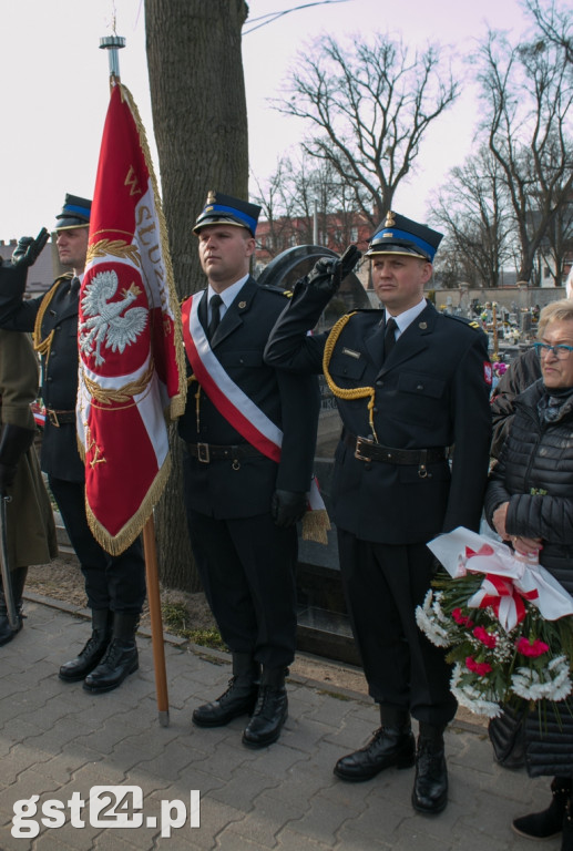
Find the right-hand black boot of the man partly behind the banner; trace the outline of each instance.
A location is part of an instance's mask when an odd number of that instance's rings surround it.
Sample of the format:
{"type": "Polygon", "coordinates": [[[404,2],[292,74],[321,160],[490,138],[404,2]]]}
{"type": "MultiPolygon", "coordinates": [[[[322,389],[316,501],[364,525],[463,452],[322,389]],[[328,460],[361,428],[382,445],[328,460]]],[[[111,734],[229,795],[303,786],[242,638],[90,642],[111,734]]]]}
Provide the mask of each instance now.
{"type": "Polygon", "coordinates": [[[132,612],[113,613],[112,639],[102,660],[83,680],[83,688],[98,695],[121,686],[125,677],[140,667],[135,633],[140,615],[132,612]]]}

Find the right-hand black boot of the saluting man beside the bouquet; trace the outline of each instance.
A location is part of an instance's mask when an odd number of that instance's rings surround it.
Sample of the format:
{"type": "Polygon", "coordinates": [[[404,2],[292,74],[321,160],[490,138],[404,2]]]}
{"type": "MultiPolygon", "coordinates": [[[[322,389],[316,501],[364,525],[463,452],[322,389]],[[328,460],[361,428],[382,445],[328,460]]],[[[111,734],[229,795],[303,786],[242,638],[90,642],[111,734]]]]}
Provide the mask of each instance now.
{"type": "Polygon", "coordinates": [[[443,730],[430,724],[420,722],[418,751],[416,753],[416,779],[412,790],[412,807],[418,812],[437,816],[448,803],[448,768],[443,747],[443,730]]]}

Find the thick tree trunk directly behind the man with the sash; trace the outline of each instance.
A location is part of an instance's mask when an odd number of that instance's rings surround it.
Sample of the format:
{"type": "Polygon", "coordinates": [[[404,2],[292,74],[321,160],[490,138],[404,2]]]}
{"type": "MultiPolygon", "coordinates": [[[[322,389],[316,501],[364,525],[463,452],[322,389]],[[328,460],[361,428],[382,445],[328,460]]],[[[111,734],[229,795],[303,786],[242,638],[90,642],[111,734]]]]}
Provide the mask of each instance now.
{"type": "MultiPolygon", "coordinates": [[[[241,31],[244,0],[145,0],[147,64],[175,286],[205,286],[193,224],[209,189],[247,198],[248,134],[241,31]]],[[[196,591],[183,509],[180,440],[156,509],[162,581],[196,591]]]]}

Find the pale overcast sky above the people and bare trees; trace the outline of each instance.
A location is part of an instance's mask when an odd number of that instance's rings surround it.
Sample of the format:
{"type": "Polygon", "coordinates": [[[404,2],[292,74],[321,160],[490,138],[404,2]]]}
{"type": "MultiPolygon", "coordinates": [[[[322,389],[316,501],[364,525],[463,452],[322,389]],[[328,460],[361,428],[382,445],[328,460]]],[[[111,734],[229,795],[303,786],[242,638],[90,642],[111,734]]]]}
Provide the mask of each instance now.
{"type": "MultiPolygon", "coordinates": [[[[260,180],[273,172],[282,154],[296,155],[304,133],[304,122],[277,114],[267,100],[279,94],[297,51],[321,33],[344,40],[388,32],[421,48],[428,40],[439,40],[467,57],[488,23],[515,34],[525,29],[518,0],[345,0],[293,11],[255,29],[262,16],[308,1],[249,2],[243,58],[250,166],[260,180]]],[[[37,233],[42,225],[51,228],[66,192],[92,196],[109,100],[108,54],[99,43],[100,37],[111,33],[114,13],[116,31],[127,40],[120,51],[122,82],[137,103],[153,150],[143,0],[2,4],[0,239],[37,233]]],[[[473,92],[464,86],[458,105],[428,136],[410,185],[399,191],[400,212],[426,218],[448,170],[471,153],[477,120],[473,92]]],[[[190,224],[196,214],[190,211],[190,224]]]]}

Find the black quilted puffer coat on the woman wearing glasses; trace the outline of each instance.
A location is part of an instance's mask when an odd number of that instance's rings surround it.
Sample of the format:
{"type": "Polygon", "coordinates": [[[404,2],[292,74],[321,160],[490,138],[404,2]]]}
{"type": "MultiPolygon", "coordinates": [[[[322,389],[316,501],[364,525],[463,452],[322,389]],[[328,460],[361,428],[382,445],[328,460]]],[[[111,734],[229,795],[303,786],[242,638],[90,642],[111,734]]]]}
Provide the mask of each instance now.
{"type": "MultiPolygon", "coordinates": [[[[538,413],[543,393],[540,379],[514,400],[511,428],[485,491],[485,516],[492,525],[498,505],[509,501],[508,534],[541,537],[540,563],[573,594],[573,397],[555,422],[543,424],[538,413]]],[[[536,710],[526,722],[532,777],[573,776],[573,701],[559,708],[560,719],[548,706],[542,725],[536,710]]]]}

